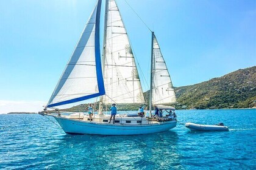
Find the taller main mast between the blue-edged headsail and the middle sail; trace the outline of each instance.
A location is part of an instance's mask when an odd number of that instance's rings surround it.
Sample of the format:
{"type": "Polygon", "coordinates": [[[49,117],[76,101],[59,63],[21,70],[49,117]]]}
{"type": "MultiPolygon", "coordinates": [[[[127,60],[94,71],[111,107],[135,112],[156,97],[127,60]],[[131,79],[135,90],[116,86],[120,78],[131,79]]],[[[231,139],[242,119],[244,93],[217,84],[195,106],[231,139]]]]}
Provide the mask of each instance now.
{"type": "MultiPolygon", "coordinates": [[[[105,0],[105,17],[104,17],[104,38],[103,38],[103,52],[102,52],[102,74],[104,78],[104,73],[105,73],[105,46],[106,46],[106,35],[107,35],[107,13],[108,13],[108,0],[105,0]]],[[[102,95],[99,99],[99,115],[102,115],[103,111],[103,99],[104,96],[102,95]]]]}

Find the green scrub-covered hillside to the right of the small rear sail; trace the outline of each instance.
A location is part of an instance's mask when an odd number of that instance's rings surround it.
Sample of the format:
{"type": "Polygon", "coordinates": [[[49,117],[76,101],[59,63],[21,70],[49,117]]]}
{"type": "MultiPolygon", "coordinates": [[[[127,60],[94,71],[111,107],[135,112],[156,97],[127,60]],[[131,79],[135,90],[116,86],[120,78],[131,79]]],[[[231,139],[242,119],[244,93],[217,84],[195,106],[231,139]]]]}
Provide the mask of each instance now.
{"type": "Polygon", "coordinates": [[[256,66],[175,90],[179,106],[188,109],[256,107],[256,66]]]}

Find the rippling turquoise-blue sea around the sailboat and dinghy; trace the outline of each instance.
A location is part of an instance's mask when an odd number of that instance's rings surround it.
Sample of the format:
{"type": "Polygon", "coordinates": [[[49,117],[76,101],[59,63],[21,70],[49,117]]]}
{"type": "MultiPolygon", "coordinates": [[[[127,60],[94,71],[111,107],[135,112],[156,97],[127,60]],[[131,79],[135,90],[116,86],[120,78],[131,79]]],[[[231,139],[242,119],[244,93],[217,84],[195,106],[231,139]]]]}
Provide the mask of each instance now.
{"type": "Polygon", "coordinates": [[[181,123],[222,121],[230,131],[178,123],[150,135],[67,135],[41,115],[0,115],[0,169],[256,169],[256,109],[176,113],[181,123]]]}

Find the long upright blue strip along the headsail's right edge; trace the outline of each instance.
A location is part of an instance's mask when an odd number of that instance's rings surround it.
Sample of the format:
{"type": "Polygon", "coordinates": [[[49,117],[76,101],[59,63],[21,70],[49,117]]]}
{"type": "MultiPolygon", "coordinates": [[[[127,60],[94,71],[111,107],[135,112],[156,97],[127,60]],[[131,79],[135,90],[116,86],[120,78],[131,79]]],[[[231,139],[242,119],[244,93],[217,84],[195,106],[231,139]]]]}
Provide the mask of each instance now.
{"type": "Polygon", "coordinates": [[[96,62],[96,73],[98,81],[99,94],[105,94],[104,80],[102,75],[102,66],[101,66],[101,50],[99,46],[99,25],[100,25],[100,16],[101,16],[101,1],[98,1],[97,13],[96,13],[96,24],[95,24],[95,62],[96,62]]]}

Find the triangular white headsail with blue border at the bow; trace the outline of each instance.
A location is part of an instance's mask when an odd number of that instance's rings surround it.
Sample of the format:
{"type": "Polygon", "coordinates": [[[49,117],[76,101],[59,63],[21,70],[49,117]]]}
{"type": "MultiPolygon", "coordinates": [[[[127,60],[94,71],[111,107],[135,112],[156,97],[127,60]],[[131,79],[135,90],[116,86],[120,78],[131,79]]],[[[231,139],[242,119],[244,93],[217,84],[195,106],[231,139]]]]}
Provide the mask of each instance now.
{"type": "Polygon", "coordinates": [[[99,47],[101,0],[96,4],[47,107],[87,100],[105,94],[99,47]]]}

